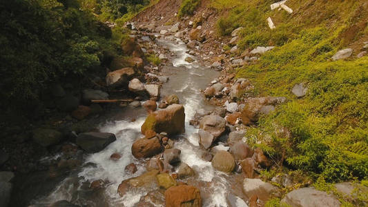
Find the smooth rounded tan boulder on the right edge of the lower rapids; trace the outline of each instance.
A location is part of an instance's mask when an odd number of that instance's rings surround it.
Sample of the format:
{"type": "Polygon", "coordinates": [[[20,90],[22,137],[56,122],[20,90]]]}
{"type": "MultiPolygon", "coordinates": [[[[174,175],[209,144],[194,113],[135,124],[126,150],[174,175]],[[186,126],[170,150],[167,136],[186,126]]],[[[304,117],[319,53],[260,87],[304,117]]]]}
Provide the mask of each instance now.
{"type": "Polygon", "coordinates": [[[220,170],[222,172],[233,172],[235,168],[235,159],[229,152],[219,150],[213,157],[211,164],[216,170],[220,170]]]}

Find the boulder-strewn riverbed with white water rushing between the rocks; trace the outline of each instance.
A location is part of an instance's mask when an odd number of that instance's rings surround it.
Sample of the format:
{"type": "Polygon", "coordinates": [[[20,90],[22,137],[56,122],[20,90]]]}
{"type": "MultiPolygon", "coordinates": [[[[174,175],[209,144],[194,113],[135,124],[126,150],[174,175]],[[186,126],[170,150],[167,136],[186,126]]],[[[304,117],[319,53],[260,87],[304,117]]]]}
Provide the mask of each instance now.
{"type": "MultiPolygon", "coordinates": [[[[67,132],[32,130],[32,141],[47,147],[49,156],[35,161],[42,171],[14,178],[1,172],[4,205],[10,200],[10,206],[263,206],[281,198],[284,188],[293,188],[298,182],[290,175],[278,175],[272,182],[260,179],[260,170],[274,163],[262,150],[250,148],[244,137],[260,115],[287,100],[251,95],[238,99],[254,86],[224,70],[251,63],[272,48],[236,58],[221,54],[209,63],[217,54],[204,54],[200,47],[211,31],[192,24],[131,23],[130,43],[122,48],[133,57],[130,66],[114,59],[106,76],[106,86],[115,93],[85,89],[83,105],[73,96],[61,96],[65,104],[59,101],[57,107],[84,126],[73,124],[67,132]],[[162,63],[147,64],[147,54],[162,63]],[[124,95],[121,88],[126,88],[124,95]],[[117,104],[106,107],[108,100],[117,104]]],[[[55,91],[62,93],[60,88],[55,91]]],[[[296,95],[304,91],[297,86],[296,95]]],[[[351,195],[354,184],[336,188],[351,195]]],[[[293,190],[282,201],[340,206],[336,197],[314,188],[293,190]]]]}

